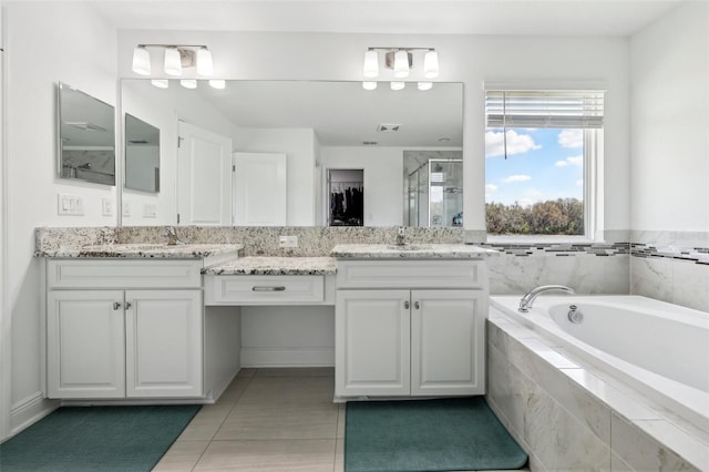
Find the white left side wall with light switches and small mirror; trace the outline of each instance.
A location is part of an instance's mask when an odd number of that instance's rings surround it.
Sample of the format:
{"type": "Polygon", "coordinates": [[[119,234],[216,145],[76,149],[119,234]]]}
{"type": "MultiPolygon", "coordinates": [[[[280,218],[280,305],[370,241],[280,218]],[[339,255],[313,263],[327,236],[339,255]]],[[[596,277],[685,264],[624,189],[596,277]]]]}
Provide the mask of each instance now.
{"type": "MultiPolygon", "coordinates": [[[[55,84],[65,82],[116,103],[116,34],[88,3],[28,2],[4,7],[7,34],[7,270],[12,332],[11,428],[40,413],[43,337],[40,260],[32,257],[42,225],[114,225],[101,198],[114,187],[55,177],[55,84]],[[85,216],[56,215],[56,194],[83,195],[85,216]]],[[[3,339],[4,341],[4,339],[3,339]]],[[[2,431],[7,434],[8,431],[2,431]]]]}

